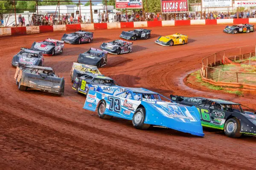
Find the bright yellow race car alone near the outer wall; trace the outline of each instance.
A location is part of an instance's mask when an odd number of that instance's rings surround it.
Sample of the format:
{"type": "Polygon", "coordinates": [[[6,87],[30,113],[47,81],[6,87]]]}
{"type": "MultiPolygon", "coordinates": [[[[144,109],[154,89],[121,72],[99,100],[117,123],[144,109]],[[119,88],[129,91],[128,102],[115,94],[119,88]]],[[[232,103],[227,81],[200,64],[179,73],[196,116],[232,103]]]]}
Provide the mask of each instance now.
{"type": "Polygon", "coordinates": [[[163,46],[172,46],[178,44],[184,45],[188,42],[188,36],[176,33],[172,35],[158,37],[158,39],[155,42],[163,46]]]}

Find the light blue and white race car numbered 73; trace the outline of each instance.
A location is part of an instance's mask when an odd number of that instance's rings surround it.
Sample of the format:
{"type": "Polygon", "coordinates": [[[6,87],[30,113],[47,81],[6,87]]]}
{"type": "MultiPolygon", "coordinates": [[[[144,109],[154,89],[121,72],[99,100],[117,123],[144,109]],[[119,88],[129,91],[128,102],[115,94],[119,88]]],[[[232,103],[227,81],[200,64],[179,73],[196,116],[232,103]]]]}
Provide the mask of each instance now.
{"type": "Polygon", "coordinates": [[[132,120],[137,129],[147,129],[153,125],[204,136],[197,108],[171,102],[145,88],[115,86],[114,91],[90,88],[84,109],[96,111],[98,107],[100,118],[111,119],[116,116],[132,120]],[[161,97],[169,102],[163,101],[161,97]]]}

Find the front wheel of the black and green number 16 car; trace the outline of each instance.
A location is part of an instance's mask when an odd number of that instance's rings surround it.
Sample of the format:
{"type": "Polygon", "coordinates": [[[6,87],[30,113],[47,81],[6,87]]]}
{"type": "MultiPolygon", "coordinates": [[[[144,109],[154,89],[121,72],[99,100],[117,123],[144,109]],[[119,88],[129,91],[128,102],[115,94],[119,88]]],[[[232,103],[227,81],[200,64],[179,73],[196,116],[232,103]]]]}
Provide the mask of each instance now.
{"type": "Polygon", "coordinates": [[[240,133],[240,129],[241,129],[241,123],[239,119],[236,119],[236,118],[228,119],[224,125],[225,135],[231,138],[241,137],[242,133],[240,133]]]}

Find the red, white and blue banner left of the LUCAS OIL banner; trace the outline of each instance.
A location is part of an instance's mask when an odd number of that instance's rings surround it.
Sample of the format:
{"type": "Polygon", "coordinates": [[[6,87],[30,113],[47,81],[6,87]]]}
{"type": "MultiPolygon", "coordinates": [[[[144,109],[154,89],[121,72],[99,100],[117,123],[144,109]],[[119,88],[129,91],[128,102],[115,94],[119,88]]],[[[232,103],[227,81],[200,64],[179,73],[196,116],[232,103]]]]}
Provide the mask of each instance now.
{"type": "Polygon", "coordinates": [[[116,0],[116,8],[143,8],[142,0],[116,0]]]}

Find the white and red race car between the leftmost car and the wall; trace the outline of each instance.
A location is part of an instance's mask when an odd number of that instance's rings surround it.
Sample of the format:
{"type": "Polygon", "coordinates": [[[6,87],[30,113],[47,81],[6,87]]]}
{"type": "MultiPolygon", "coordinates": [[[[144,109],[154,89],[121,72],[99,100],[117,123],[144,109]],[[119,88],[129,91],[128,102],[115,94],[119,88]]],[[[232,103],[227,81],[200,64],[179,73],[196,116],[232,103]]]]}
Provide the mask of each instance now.
{"type": "Polygon", "coordinates": [[[61,54],[63,47],[64,41],[47,38],[44,41],[34,42],[31,48],[42,51],[45,56],[53,56],[55,54],[61,54]]]}

